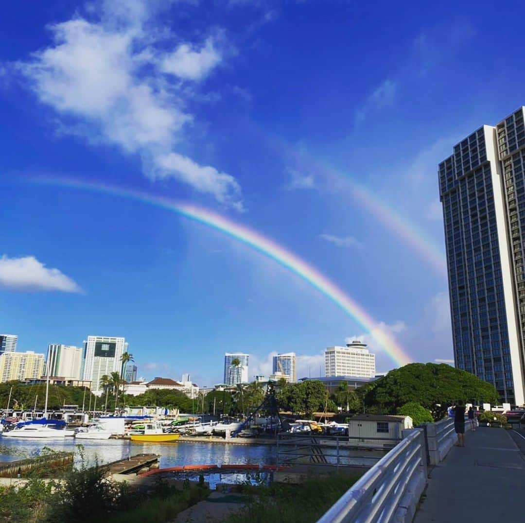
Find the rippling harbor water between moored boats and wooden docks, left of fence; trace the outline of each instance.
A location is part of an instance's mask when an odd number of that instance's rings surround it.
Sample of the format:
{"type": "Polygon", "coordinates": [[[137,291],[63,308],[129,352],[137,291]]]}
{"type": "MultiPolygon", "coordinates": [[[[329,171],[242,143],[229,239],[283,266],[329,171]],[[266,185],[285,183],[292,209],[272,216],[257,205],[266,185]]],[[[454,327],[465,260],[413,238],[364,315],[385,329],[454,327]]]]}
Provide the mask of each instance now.
{"type": "MultiPolygon", "coordinates": [[[[0,436],[0,462],[23,459],[38,455],[46,446],[54,451],[75,452],[76,463],[80,462],[77,450],[79,440],[66,437],[64,440],[37,441],[14,440],[0,436]]],[[[161,468],[179,465],[236,465],[241,463],[275,464],[276,448],[272,445],[225,445],[219,443],[131,443],[129,440],[103,440],[82,442],[83,454],[88,464],[109,463],[129,455],[140,453],[160,454],[161,468]]]]}

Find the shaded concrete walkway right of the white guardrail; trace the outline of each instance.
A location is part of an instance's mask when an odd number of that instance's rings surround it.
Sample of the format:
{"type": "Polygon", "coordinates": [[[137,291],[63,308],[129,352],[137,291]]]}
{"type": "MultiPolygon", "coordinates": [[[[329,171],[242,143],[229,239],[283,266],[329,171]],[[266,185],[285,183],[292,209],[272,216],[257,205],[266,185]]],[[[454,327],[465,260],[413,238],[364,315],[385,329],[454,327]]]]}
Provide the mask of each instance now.
{"type": "Polygon", "coordinates": [[[503,428],[478,427],[429,473],[415,523],[522,521],[525,456],[503,428]]]}

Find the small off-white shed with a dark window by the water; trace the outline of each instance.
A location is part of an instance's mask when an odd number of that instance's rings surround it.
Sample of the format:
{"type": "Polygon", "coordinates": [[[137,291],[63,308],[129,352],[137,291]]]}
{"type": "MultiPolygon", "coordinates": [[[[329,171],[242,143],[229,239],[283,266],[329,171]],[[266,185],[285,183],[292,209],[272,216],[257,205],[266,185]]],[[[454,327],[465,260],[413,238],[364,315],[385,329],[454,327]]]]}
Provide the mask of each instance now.
{"type": "Polygon", "coordinates": [[[405,428],[412,428],[410,416],[358,414],[348,422],[349,441],[356,446],[392,447],[402,439],[405,428]]]}

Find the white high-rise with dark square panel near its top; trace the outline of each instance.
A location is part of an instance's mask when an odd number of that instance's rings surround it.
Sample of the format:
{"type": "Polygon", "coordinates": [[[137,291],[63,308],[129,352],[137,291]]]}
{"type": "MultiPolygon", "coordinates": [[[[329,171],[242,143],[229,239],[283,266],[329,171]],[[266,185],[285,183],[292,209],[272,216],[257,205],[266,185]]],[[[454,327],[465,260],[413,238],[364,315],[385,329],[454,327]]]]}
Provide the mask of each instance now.
{"type": "Polygon", "coordinates": [[[100,394],[103,391],[100,379],[104,374],[110,376],[112,372],[118,372],[120,375],[122,354],[127,349],[124,338],[88,336],[84,341],[82,379],[91,381],[91,392],[100,394]]]}

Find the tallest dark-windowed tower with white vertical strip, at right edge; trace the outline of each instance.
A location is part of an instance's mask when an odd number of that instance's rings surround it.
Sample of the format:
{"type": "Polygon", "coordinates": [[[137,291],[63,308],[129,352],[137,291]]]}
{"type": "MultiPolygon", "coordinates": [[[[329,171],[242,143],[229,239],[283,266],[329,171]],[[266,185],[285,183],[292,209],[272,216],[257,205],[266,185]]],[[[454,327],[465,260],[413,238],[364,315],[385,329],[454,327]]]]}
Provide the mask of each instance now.
{"type": "Polygon", "coordinates": [[[525,129],[521,107],[439,164],[454,361],[525,401],[525,129]]]}

